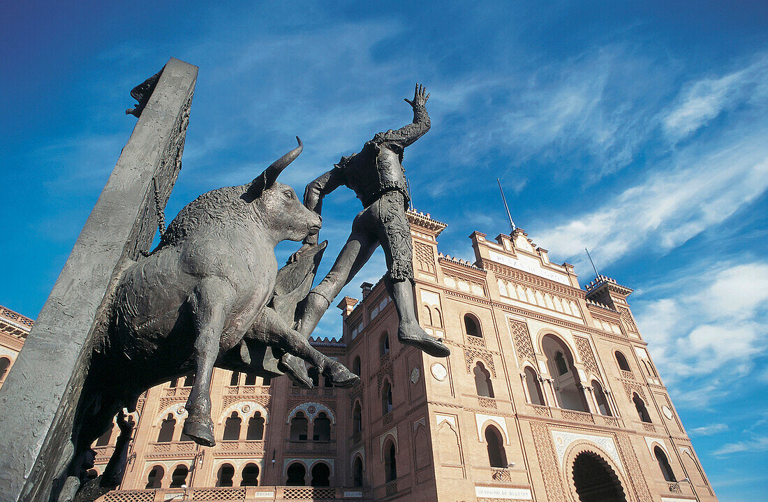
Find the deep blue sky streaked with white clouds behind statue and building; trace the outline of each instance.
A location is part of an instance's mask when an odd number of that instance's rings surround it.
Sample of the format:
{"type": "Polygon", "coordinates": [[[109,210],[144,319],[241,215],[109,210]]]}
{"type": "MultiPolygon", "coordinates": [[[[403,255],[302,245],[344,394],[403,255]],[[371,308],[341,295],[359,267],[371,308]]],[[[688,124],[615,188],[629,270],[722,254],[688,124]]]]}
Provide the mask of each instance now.
{"type": "MultiPolygon", "coordinates": [[[[379,130],[415,207],[466,236],[518,226],[582,284],[635,289],[638,324],[720,500],[768,490],[765,2],[0,2],[0,304],[35,317],[134,127],[128,91],[200,67],[167,208],[252,179],[300,135],[297,191],[379,130]],[[641,3],[642,5],[637,5],[641,3]]],[[[335,256],[359,210],[323,207],[335,256]]],[[[292,246],[281,245],[280,256],[292,246]]],[[[330,260],[329,260],[330,261],[330,260]]],[[[326,267],[329,264],[326,263],[326,267]]],[[[384,271],[378,252],[346,289],[384,271]]],[[[318,335],[339,332],[331,312],[318,335]]]]}

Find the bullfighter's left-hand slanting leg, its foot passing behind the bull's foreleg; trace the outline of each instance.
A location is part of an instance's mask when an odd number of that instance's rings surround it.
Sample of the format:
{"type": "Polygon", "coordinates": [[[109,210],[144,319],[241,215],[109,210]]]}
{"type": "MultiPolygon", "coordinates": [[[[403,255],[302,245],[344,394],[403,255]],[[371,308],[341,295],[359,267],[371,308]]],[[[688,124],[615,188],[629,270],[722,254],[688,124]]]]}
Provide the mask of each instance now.
{"type": "MultiPolygon", "coordinates": [[[[372,211],[376,203],[359,213],[352,223],[352,233],[333,263],[328,275],[310,291],[298,328],[304,339],[310,339],[313,330],[328,310],[336,295],[362,269],[379,246],[379,239],[373,233],[372,211]]],[[[292,355],[284,355],[280,361],[286,375],[306,388],[312,388],[312,379],[306,374],[304,363],[292,355]]]]}

